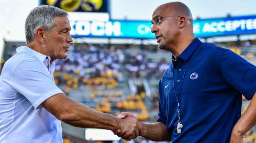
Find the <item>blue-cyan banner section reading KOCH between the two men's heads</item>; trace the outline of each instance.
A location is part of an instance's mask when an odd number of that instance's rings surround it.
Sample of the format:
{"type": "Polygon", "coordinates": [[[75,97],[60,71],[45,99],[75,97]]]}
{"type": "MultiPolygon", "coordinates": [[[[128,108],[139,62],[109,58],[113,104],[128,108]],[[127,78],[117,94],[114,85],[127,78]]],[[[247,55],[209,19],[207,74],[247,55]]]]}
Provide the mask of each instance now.
{"type": "Polygon", "coordinates": [[[149,21],[70,21],[72,37],[154,38],[149,21]]]}

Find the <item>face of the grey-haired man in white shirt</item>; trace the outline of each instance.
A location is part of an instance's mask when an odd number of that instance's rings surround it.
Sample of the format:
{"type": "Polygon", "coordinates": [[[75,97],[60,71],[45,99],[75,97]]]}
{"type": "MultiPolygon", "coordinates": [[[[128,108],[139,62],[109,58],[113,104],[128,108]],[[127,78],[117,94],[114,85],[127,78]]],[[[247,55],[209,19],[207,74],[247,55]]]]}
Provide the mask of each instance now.
{"type": "Polygon", "coordinates": [[[69,43],[73,42],[70,36],[70,23],[68,17],[55,17],[55,26],[50,33],[46,33],[46,50],[51,61],[65,59],[69,50],[69,43]]]}

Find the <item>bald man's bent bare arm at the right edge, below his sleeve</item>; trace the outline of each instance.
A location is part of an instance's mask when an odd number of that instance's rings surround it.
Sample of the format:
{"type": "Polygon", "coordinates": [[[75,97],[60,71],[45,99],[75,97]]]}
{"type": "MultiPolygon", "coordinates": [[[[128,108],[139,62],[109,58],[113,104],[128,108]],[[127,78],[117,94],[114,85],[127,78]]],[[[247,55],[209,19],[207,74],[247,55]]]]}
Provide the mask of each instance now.
{"type": "Polygon", "coordinates": [[[244,136],[256,124],[256,93],[253,95],[247,110],[243,113],[236,125],[233,127],[232,134],[244,136]]]}

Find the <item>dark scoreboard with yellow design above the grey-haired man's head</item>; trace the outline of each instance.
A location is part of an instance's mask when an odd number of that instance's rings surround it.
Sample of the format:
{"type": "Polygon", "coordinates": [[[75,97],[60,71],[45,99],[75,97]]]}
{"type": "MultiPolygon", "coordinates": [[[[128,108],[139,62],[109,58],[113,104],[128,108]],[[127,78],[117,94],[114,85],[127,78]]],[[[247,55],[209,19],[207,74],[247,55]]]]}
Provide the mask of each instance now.
{"type": "Polygon", "coordinates": [[[108,12],[107,0],[41,0],[41,5],[51,5],[76,12],[108,12]]]}

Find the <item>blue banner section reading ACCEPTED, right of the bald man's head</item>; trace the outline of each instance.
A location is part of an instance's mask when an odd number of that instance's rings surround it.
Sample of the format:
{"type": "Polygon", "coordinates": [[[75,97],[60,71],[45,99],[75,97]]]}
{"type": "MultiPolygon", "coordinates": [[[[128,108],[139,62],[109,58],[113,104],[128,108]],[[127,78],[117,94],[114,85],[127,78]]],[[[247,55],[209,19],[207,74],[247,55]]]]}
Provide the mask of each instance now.
{"type": "Polygon", "coordinates": [[[256,16],[194,20],[193,30],[197,37],[252,34],[256,33],[256,16]]]}

